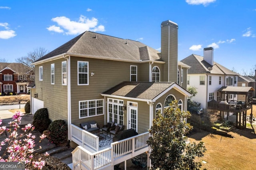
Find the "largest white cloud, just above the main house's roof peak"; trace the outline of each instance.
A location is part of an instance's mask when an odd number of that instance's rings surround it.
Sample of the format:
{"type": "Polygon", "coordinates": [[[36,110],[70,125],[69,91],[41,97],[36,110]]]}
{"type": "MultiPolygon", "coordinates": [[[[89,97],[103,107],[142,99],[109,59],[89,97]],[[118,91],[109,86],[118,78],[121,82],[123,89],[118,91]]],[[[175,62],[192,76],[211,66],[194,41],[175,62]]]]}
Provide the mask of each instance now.
{"type": "MultiPolygon", "coordinates": [[[[79,17],[79,20],[76,21],[71,21],[69,18],[65,16],[60,16],[56,18],[52,18],[52,21],[57,22],[58,24],[58,30],[65,30],[65,34],[67,35],[76,35],[76,34],[81,34],[85,31],[105,31],[104,26],[98,25],[98,20],[96,18],[86,18],[86,16],[81,15],[79,17]]],[[[52,26],[48,27],[47,29],[49,30],[52,26]]],[[[57,28],[57,26],[55,26],[57,28]]],[[[55,30],[51,30],[55,31],[55,30]]],[[[56,32],[56,31],[55,31],[56,32]]]]}

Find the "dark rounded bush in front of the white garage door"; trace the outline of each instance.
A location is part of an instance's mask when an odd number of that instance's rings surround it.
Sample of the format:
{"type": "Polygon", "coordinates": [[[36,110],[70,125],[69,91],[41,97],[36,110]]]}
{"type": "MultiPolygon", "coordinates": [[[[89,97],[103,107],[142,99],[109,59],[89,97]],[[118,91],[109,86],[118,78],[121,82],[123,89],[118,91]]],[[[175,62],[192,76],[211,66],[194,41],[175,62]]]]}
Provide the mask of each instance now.
{"type": "Polygon", "coordinates": [[[51,120],[48,117],[47,108],[38,109],[34,114],[33,125],[35,129],[42,133],[44,130],[48,129],[50,123],[51,120]]]}

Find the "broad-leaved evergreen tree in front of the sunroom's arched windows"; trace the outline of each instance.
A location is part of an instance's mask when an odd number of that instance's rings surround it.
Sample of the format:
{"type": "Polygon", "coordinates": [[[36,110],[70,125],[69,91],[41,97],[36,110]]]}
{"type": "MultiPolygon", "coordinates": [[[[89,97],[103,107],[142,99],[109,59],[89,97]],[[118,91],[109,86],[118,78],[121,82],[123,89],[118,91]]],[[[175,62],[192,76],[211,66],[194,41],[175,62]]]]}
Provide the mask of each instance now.
{"type": "Polygon", "coordinates": [[[189,112],[180,111],[177,101],[172,101],[163,115],[157,113],[149,129],[151,136],[148,140],[153,169],[199,170],[202,166],[195,158],[204,156],[204,142],[191,143],[185,136],[192,130],[192,126],[186,123],[189,117],[189,112]]]}

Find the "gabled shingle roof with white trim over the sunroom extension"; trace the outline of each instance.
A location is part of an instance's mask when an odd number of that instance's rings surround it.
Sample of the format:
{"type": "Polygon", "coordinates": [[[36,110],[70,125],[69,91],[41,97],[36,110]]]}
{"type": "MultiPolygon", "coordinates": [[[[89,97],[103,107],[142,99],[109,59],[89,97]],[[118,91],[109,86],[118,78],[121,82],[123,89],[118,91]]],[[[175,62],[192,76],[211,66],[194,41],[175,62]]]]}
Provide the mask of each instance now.
{"type": "Polygon", "coordinates": [[[188,91],[182,89],[174,82],[130,82],[124,81],[115,87],[101,93],[101,95],[114,95],[120,97],[129,97],[153,100],[158,97],[161,93],[166,90],[170,90],[172,87],[176,86],[180,90],[184,91],[187,95],[190,95],[188,91]]]}

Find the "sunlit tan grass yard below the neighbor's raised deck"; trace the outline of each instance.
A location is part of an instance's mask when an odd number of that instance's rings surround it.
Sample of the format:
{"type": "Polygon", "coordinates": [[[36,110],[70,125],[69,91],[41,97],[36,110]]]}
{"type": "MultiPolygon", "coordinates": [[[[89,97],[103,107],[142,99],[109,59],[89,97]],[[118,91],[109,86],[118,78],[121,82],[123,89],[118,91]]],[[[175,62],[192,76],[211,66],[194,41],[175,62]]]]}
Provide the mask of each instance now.
{"type": "MultiPolygon", "coordinates": [[[[256,116],[256,105],[253,106],[253,115],[256,116]]],[[[200,158],[202,170],[255,170],[256,157],[256,123],[247,124],[243,130],[234,129],[228,134],[234,136],[229,138],[217,134],[211,134],[204,130],[195,128],[188,135],[190,141],[203,141],[206,152],[200,158]]]]}

